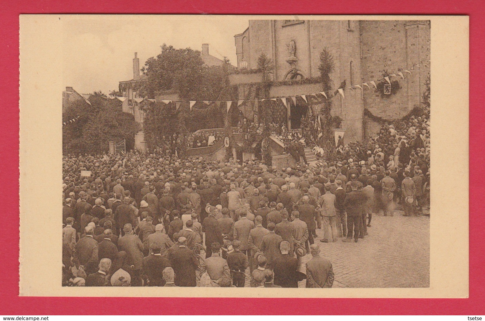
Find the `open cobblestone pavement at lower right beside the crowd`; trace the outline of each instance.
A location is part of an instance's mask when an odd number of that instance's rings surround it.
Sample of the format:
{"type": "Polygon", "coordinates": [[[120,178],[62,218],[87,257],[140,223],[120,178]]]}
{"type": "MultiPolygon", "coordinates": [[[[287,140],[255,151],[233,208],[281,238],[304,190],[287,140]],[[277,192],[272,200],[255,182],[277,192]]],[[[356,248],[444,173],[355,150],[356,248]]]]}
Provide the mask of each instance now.
{"type": "MultiPolygon", "coordinates": [[[[423,288],[429,287],[429,216],[373,214],[368,235],[358,243],[322,243],[323,230],[317,229],[315,243],[330,260],[335,274],[334,288],[423,288]]],[[[429,211],[424,213],[429,214],[429,211]]],[[[301,271],[305,273],[303,258],[301,271]]],[[[249,274],[249,269],[246,271],[249,274]]],[[[306,280],[299,282],[305,287],[306,280]]],[[[246,287],[250,286],[249,275],[246,287]]]]}

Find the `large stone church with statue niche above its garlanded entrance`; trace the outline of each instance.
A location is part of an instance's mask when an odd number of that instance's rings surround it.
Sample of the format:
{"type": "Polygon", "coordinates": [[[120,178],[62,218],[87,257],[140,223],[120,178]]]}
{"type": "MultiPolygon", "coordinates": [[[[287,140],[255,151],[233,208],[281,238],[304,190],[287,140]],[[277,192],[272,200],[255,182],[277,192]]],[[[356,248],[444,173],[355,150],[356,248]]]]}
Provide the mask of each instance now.
{"type": "MultiPolygon", "coordinates": [[[[249,20],[248,28],[234,39],[239,69],[257,69],[261,53],[275,65],[269,79],[268,97],[258,98],[321,92],[318,67],[323,48],[333,55],[335,70],[330,77],[335,90],[343,83],[343,87],[350,87],[420,64],[411,74],[392,77],[390,93],[376,81],[377,88],[354,87],[344,91],[345,97],[337,94],[332,99],[332,114],[342,119],[345,142],[373,135],[378,125],[372,116],[394,120],[414,107],[422,107],[430,66],[427,62],[430,60],[429,21],[249,20]]],[[[242,78],[233,84],[239,87],[239,99],[246,99],[251,83],[261,79],[250,73],[247,81],[242,78]]],[[[308,104],[313,110],[320,107],[317,102],[300,99],[296,100],[296,106],[288,105],[290,129],[299,128],[299,118],[307,113],[308,104]]],[[[258,108],[244,107],[243,112],[252,119],[258,108]]]]}

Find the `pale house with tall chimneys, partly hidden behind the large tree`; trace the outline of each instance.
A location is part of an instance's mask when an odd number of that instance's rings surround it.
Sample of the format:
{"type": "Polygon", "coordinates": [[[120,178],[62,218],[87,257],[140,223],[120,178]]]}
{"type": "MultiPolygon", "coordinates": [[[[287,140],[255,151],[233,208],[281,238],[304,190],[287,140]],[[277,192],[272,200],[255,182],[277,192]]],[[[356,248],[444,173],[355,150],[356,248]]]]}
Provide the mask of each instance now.
{"type": "MultiPolygon", "coordinates": [[[[200,57],[204,63],[211,67],[211,66],[222,66],[224,65],[224,61],[211,56],[209,54],[209,44],[202,44],[202,50],[200,52],[200,57]]],[[[140,59],[138,58],[138,54],[135,52],[135,58],[133,58],[133,78],[130,80],[124,80],[119,82],[119,92],[122,93],[123,97],[127,97],[123,104],[122,108],[124,112],[128,112],[135,117],[135,121],[140,123],[140,127],[143,129],[143,122],[145,121],[145,113],[142,109],[139,108],[139,100],[140,95],[137,92],[137,88],[139,87],[140,83],[144,81],[148,81],[148,77],[146,75],[140,75],[140,59]]],[[[176,92],[159,92],[155,95],[155,99],[167,99],[167,100],[178,100],[178,94],[176,92]]],[[[135,135],[135,148],[139,150],[146,150],[145,147],[145,136],[143,130],[138,132],[135,135]]]]}

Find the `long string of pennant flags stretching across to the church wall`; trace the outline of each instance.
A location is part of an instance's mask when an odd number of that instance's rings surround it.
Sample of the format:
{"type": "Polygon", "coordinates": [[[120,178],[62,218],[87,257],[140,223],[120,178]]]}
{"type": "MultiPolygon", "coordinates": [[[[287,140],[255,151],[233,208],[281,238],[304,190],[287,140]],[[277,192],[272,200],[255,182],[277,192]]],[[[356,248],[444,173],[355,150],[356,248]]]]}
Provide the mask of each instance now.
{"type": "MultiPolygon", "coordinates": [[[[204,101],[198,101],[198,100],[168,100],[168,99],[149,99],[149,98],[133,98],[133,100],[137,103],[141,103],[144,100],[147,100],[147,101],[152,102],[152,103],[162,101],[166,105],[168,105],[170,103],[175,103],[176,109],[178,109],[180,107],[181,103],[189,103],[190,110],[192,110],[192,107],[194,107],[194,105],[198,102],[202,102],[206,105],[210,105],[211,103],[215,103],[219,107],[221,107],[221,104],[225,104],[226,105],[225,106],[226,112],[229,112],[229,109],[231,108],[231,106],[233,104],[234,104],[234,106],[237,105],[237,107],[239,108],[245,102],[255,102],[255,101],[263,102],[263,101],[266,101],[266,100],[273,100],[273,101],[277,102],[278,99],[283,103],[283,105],[285,105],[285,107],[288,107],[288,101],[287,101],[288,98],[291,98],[294,105],[296,105],[296,97],[301,97],[306,103],[308,103],[308,97],[315,97],[315,98],[318,99],[317,94],[320,94],[325,99],[328,99],[327,93],[331,93],[331,92],[336,92],[336,93],[338,92],[340,94],[340,96],[342,97],[342,99],[345,99],[344,90],[356,90],[358,88],[361,91],[364,91],[364,86],[367,87],[369,90],[371,90],[372,87],[374,89],[377,89],[376,82],[381,82],[381,81],[386,81],[388,85],[391,85],[391,78],[392,77],[398,77],[398,78],[405,79],[404,73],[407,73],[407,74],[409,74],[409,76],[411,76],[413,70],[415,70],[416,68],[421,68],[421,64],[427,66],[427,64],[429,62],[430,62],[430,60],[420,62],[419,64],[414,64],[412,67],[410,67],[408,69],[399,68],[398,70],[401,70],[401,71],[398,71],[398,72],[396,72],[392,75],[389,75],[389,76],[385,76],[384,78],[374,79],[374,80],[371,80],[371,81],[367,81],[367,82],[364,82],[364,83],[361,83],[361,84],[351,85],[351,86],[344,87],[344,88],[338,88],[336,91],[331,90],[331,91],[326,91],[326,92],[315,92],[315,93],[308,93],[308,94],[304,94],[304,95],[296,95],[296,96],[289,96],[289,97],[278,97],[278,98],[267,98],[267,99],[250,99],[250,100],[222,100],[222,101],[207,101],[207,100],[204,100],[204,101]]],[[[101,96],[105,99],[118,99],[121,102],[124,102],[126,99],[129,99],[128,97],[89,95],[89,94],[81,94],[81,96],[84,98],[84,100],[89,105],[91,105],[91,103],[89,102],[90,96],[101,96]]]]}

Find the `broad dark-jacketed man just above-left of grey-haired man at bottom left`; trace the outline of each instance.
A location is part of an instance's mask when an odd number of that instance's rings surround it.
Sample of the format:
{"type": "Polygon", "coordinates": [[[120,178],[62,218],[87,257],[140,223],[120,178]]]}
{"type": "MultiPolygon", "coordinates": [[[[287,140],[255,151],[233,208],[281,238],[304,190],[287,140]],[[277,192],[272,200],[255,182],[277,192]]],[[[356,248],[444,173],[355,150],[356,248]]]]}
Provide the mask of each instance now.
{"type": "Polygon", "coordinates": [[[74,247],[73,261],[77,267],[83,265],[86,273],[95,273],[99,262],[97,241],[93,239],[93,228],[87,226],[84,233],[86,235],[74,247]]]}

